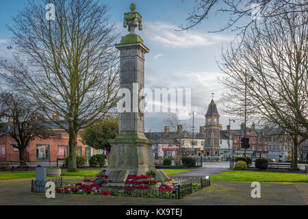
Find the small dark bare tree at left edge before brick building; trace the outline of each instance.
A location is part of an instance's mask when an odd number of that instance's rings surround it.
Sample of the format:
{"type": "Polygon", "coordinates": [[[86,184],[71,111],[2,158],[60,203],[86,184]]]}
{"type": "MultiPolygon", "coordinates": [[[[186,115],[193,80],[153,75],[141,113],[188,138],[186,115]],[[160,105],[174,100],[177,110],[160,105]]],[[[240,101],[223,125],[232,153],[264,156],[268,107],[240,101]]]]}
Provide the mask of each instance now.
{"type": "Polygon", "coordinates": [[[40,105],[21,94],[12,92],[0,94],[0,118],[8,120],[2,129],[1,136],[9,135],[16,141],[12,146],[19,151],[21,165],[26,165],[25,148],[31,138],[58,136],[57,133],[48,129],[43,116],[40,116],[41,113],[40,105]]]}

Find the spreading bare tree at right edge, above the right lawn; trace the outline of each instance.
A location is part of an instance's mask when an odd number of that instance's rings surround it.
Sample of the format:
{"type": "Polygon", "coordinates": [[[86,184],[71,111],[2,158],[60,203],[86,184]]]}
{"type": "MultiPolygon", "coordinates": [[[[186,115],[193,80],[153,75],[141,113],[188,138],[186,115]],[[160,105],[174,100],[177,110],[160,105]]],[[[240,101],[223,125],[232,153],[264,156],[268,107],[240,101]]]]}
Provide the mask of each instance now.
{"type": "Polygon", "coordinates": [[[294,137],[294,168],[298,136],[308,138],[307,20],[308,12],[266,18],[264,25],[250,29],[240,49],[231,45],[220,64],[221,81],[229,90],[224,98],[234,114],[242,112],[246,86],[250,113],[294,137]]]}

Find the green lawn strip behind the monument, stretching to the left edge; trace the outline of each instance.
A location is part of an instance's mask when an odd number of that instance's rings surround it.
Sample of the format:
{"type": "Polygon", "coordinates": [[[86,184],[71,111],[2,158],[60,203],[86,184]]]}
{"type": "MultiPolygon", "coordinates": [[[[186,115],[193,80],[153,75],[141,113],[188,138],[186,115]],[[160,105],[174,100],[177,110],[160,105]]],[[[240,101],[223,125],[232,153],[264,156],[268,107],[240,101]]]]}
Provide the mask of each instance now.
{"type": "MultiPolygon", "coordinates": [[[[174,175],[181,172],[189,172],[190,170],[164,170],[166,172],[166,175],[174,175]]],[[[99,173],[99,170],[81,170],[79,172],[63,172],[62,171],[62,177],[64,179],[74,179],[74,178],[83,178],[84,175],[96,175],[99,173]]],[[[0,180],[4,179],[26,179],[26,178],[35,178],[36,173],[35,172],[8,172],[8,173],[0,173],[0,180]]],[[[51,177],[53,178],[53,177],[51,177]]]]}

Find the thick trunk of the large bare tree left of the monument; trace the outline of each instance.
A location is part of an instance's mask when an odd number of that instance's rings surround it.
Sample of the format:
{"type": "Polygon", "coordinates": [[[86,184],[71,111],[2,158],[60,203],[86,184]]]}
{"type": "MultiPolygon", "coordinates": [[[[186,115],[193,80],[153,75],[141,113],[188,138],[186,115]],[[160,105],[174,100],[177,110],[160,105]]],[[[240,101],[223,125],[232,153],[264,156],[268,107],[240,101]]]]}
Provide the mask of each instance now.
{"type": "Polygon", "coordinates": [[[77,149],[77,131],[73,128],[68,130],[69,140],[68,140],[68,172],[77,172],[76,164],[76,149],[77,149]]]}

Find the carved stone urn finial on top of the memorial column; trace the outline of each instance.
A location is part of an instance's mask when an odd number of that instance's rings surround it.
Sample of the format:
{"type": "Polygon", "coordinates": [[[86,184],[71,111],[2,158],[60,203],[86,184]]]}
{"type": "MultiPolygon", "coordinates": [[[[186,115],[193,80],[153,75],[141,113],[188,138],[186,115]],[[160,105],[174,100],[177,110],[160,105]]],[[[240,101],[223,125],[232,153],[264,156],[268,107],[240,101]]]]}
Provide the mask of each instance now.
{"type": "Polygon", "coordinates": [[[123,27],[126,28],[128,26],[130,34],[136,34],[136,27],[142,30],[142,16],[136,12],[136,5],[134,3],[131,4],[130,8],[131,12],[124,14],[123,27]]]}

